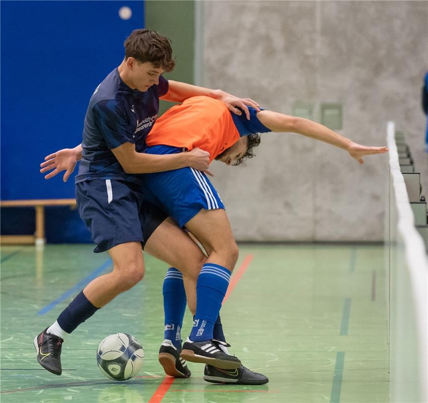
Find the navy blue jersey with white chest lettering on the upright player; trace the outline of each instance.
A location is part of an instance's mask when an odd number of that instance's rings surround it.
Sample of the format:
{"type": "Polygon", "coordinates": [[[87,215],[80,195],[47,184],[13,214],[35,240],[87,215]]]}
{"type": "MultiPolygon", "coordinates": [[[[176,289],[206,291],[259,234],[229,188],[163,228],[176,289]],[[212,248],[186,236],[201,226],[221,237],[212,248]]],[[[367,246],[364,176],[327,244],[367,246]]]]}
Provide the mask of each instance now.
{"type": "Polygon", "coordinates": [[[76,183],[92,179],[116,179],[141,183],[138,174],[126,173],[111,149],[125,143],[144,150],[145,140],[158,117],[159,97],[168,92],[168,81],[146,92],[132,90],[113,70],[96,88],[85,115],[82,160],[76,183]]]}

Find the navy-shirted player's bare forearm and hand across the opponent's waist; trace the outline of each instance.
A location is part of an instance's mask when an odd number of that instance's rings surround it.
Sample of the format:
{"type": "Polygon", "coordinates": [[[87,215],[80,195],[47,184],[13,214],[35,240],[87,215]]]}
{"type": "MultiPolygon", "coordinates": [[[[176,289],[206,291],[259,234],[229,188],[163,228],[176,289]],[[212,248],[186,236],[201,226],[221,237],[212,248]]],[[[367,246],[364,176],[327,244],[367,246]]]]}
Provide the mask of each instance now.
{"type": "Polygon", "coordinates": [[[111,150],[126,173],[153,173],[192,167],[214,176],[208,169],[209,153],[198,148],[178,154],[137,153],[135,145],[124,143],[111,150]]]}

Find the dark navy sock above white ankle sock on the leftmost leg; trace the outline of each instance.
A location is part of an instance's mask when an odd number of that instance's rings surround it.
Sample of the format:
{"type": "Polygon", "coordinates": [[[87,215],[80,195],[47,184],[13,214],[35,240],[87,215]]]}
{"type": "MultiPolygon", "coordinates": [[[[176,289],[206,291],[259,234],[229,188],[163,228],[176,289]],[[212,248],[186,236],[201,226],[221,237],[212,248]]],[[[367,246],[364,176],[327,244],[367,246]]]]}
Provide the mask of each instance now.
{"type": "Polygon", "coordinates": [[[83,291],[68,304],[68,306],[59,314],[56,321],[61,329],[71,333],[76,327],[90,318],[98,309],[92,305],[91,301],[86,298],[83,291]]]}

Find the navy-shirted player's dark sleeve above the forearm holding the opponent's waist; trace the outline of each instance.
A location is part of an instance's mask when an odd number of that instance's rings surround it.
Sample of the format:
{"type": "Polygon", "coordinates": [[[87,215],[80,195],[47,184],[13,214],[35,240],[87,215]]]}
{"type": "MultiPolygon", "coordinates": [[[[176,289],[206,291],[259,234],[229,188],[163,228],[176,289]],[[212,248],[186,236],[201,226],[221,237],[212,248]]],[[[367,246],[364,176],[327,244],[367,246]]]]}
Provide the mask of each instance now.
{"type": "Polygon", "coordinates": [[[100,101],[94,106],[93,112],[94,120],[110,150],[125,143],[134,143],[132,127],[117,101],[100,101]]]}

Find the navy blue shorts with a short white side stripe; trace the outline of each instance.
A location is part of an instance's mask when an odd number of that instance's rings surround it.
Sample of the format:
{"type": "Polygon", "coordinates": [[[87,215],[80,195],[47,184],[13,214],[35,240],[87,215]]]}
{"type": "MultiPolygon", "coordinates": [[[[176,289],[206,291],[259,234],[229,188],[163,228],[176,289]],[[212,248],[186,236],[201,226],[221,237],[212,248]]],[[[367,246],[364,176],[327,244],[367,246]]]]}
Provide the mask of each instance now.
{"type": "Polygon", "coordinates": [[[80,217],[97,244],[94,252],[104,252],[125,242],[144,243],[168,217],[158,207],[144,201],[139,185],[114,179],[94,179],[76,184],[80,217]]]}

